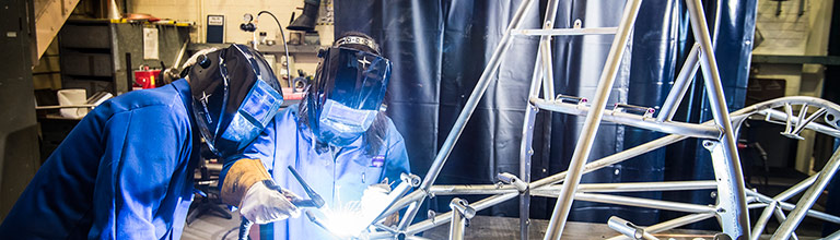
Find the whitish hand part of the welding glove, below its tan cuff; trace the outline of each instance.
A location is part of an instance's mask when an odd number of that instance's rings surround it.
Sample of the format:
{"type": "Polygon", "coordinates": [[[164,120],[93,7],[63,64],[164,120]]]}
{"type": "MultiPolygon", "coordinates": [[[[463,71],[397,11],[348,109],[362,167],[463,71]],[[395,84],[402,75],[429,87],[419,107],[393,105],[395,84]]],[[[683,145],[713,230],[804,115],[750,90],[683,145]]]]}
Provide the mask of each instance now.
{"type": "Polygon", "coordinates": [[[277,187],[266,184],[273,182],[257,182],[248,189],[242,197],[242,216],[256,224],[268,224],[301,215],[301,211],[291,203],[291,200],[300,199],[298,195],[284,189],[282,192],[277,191],[277,187]]]}

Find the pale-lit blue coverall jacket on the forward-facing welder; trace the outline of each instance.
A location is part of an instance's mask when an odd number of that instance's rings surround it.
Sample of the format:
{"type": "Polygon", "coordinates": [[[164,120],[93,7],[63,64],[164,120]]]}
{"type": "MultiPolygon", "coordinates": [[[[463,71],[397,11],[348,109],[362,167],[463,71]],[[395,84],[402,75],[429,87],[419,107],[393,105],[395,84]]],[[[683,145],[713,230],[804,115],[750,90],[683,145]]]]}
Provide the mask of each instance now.
{"type": "MultiPolygon", "coordinates": [[[[304,181],[317,192],[326,205],[339,207],[359,201],[368,185],[380,183],[384,178],[399,182],[400,173],[409,172],[408,154],[402,136],[388,119],[385,143],[375,155],[365,154],[363,137],[348,146],[318,154],[313,147],[312,130],[298,124],[298,106],[278,113],[259,137],[244,153],[245,158],[261,159],[277,185],[306,199],[300,183],[289,173],[292,166],[304,181]]],[[[222,175],[241,158],[225,163],[222,175]]],[[[332,239],[334,237],[306,216],[273,223],[275,240],[332,239]]],[[[265,226],[264,226],[265,228],[265,226]]]]}

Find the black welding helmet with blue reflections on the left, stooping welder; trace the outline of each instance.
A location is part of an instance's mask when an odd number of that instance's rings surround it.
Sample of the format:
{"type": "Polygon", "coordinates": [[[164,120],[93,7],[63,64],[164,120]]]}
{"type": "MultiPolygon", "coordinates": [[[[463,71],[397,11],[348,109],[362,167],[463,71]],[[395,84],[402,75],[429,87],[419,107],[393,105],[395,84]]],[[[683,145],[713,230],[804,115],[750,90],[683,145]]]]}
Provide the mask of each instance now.
{"type": "Polygon", "coordinates": [[[197,127],[219,156],[247,146],[283,103],[268,62],[244,45],[199,56],[188,77],[197,127]]]}

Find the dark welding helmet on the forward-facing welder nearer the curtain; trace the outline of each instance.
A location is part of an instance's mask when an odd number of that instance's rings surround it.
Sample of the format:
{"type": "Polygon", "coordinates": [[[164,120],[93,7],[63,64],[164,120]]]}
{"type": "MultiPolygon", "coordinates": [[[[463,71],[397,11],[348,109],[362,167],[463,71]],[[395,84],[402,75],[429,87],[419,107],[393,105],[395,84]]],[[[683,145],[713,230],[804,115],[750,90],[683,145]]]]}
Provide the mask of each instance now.
{"type": "Polygon", "coordinates": [[[346,36],[319,52],[306,97],[308,123],[319,142],[346,146],[373,124],[390,79],[390,61],[376,49],[368,37],[346,36]]]}

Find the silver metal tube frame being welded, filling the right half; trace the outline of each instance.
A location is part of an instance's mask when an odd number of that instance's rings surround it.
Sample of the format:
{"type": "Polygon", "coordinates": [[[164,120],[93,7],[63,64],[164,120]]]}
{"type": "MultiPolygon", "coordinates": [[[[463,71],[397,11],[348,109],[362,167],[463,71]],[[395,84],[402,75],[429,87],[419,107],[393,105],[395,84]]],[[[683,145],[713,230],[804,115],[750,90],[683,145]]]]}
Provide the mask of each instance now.
{"type": "MultiPolygon", "coordinates": [[[[488,62],[488,65],[485,68],[485,71],[482,72],[481,77],[476,85],[475,91],[467,100],[453,129],[450,131],[450,134],[444,141],[440,152],[435,156],[429,173],[423,179],[420,188],[418,191],[411,192],[397,200],[387,211],[382,214],[382,216],[387,216],[407,207],[405,217],[396,229],[388,228],[383,229],[384,231],[372,232],[371,238],[382,239],[390,238],[394,235],[405,235],[406,238],[411,239],[415,238],[413,235],[416,233],[425,231],[435,226],[446,224],[454,219],[453,212],[439,214],[431,217],[430,219],[415,224],[411,223],[411,219],[413,219],[413,217],[417,215],[420,204],[422,204],[427,197],[434,197],[435,195],[462,194],[490,195],[474,204],[470,204],[475,211],[481,211],[520,196],[521,238],[523,239],[527,239],[528,237],[528,211],[529,197],[532,195],[558,197],[558,203],[553,209],[545,239],[559,239],[561,237],[571,203],[574,200],[695,213],[645,228],[645,230],[650,232],[658,232],[662,230],[673,229],[686,224],[707,219],[712,216],[719,217],[724,233],[730,235],[733,237],[733,239],[738,237],[745,237],[747,239],[756,238],[756,236],[760,233],[757,231],[762,230],[763,226],[767,224],[767,221],[769,221],[770,214],[773,214],[777,216],[777,218],[786,224],[785,227],[782,228],[785,231],[794,229],[798,225],[798,221],[801,221],[801,218],[804,216],[815,217],[831,223],[840,223],[840,217],[838,216],[808,209],[813,203],[807,203],[807,201],[814,199],[815,195],[818,194],[817,189],[821,189],[820,187],[824,188],[822,182],[830,180],[830,178],[833,177],[833,172],[840,168],[840,160],[837,160],[837,154],[836,156],[832,156],[832,159],[829,164],[830,167],[821,170],[819,176],[814,176],[809,179],[806,179],[805,181],[794,185],[788,191],[777,195],[775,197],[769,197],[761,195],[760,193],[746,190],[744,188],[744,178],[740,173],[742,171],[739,159],[735,148],[735,135],[737,132],[736,127],[739,125],[745,119],[750,118],[750,116],[763,116],[763,120],[768,122],[786,125],[785,133],[791,133],[788,135],[789,137],[797,136],[798,132],[804,129],[809,129],[840,137],[840,125],[838,125],[840,124],[840,121],[828,120],[829,116],[831,116],[831,118],[840,117],[840,106],[827,100],[812,97],[784,97],[760,103],[730,113],[726,108],[725,98],[723,96],[723,87],[713,52],[713,43],[705,24],[707,21],[700,5],[700,0],[686,1],[689,10],[692,32],[695,33],[695,38],[698,40],[698,43],[690,51],[689,60],[687,60],[680,69],[680,72],[675,81],[675,85],[668,94],[665,104],[663,105],[662,112],[660,112],[656,118],[652,118],[650,116],[640,116],[605,109],[609,89],[615,82],[618,67],[621,63],[621,55],[626,50],[629,35],[632,32],[632,25],[638,14],[641,0],[628,0],[625,5],[621,22],[618,27],[569,29],[553,28],[553,16],[556,15],[558,2],[556,0],[549,0],[548,4],[551,8],[547,9],[547,17],[546,22],[542,24],[542,28],[522,29],[521,23],[522,19],[524,17],[523,15],[535,4],[533,0],[524,0],[517,8],[516,13],[513,15],[511,23],[504,33],[504,36],[502,37],[499,46],[497,46],[492,57],[488,62]],[[586,101],[584,100],[580,100],[575,105],[569,104],[561,98],[555,99],[553,73],[551,64],[551,36],[590,34],[616,34],[609,55],[607,56],[607,63],[605,64],[605,69],[602,72],[598,87],[596,89],[592,105],[587,106],[586,101]],[[446,159],[448,158],[454,144],[457,142],[457,139],[463,132],[465,124],[467,123],[472,111],[476,109],[476,106],[487,89],[487,86],[490,84],[490,75],[498,71],[500,61],[502,58],[504,58],[505,52],[509,50],[511,41],[513,40],[512,36],[514,35],[540,36],[539,48],[536,52],[537,61],[534,68],[534,75],[532,77],[530,85],[532,87],[529,88],[528,94],[529,100],[527,103],[527,110],[525,113],[525,120],[523,122],[523,139],[520,152],[520,178],[522,181],[528,183],[528,188],[523,191],[522,185],[520,185],[517,189],[512,184],[504,183],[483,185],[434,185],[434,181],[443,168],[446,159]],[[684,97],[685,92],[687,91],[687,86],[689,85],[690,81],[692,81],[696,72],[700,69],[702,70],[701,72],[704,76],[704,86],[708,95],[710,96],[709,100],[714,119],[700,124],[672,121],[670,119],[676,111],[676,107],[679,105],[681,98],[684,97]],[[540,93],[542,94],[542,98],[538,97],[540,93]],[[792,105],[802,105],[798,115],[793,115],[792,105]],[[819,107],[819,110],[808,117],[808,106],[819,107]],[[775,108],[783,108],[784,111],[777,110],[775,108]],[[586,120],[584,122],[583,131],[581,132],[581,135],[579,135],[578,146],[575,147],[574,155],[572,156],[572,163],[570,164],[569,170],[558,172],[536,181],[532,181],[530,157],[534,154],[532,148],[534,124],[536,120],[536,113],[540,109],[586,116],[586,120]],[[816,118],[822,115],[826,117],[825,122],[815,121],[816,118]],[[586,159],[588,158],[596,130],[602,120],[614,121],[619,124],[639,127],[672,134],[587,164],[586,159]],[[687,182],[580,184],[581,176],[584,173],[649,153],[687,137],[713,140],[707,141],[707,146],[712,154],[713,166],[716,176],[715,180],[687,182]],[[817,183],[815,184],[815,182],[817,183]],[[808,187],[812,188],[803,196],[803,201],[806,202],[800,202],[797,205],[784,202],[792,195],[804,191],[808,187]],[[690,191],[699,189],[716,189],[719,192],[718,203],[713,206],[704,206],[679,202],[596,194],[596,192],[615,193],[629,191],[690,191]],[[749,197],[747,197],[747,195],[749,195],[749,197]],[[759,221],[756,225],[756,228],[750,229],[747,209],[756,207],[765,207],[765,211],[762,212],[762,216],[759,217],[759,221]],[[791,217],[785,217],[782,209],[793,211],[791,213],[791,217]],[[752,233],[756,235],[750,235],[750,230],[752,230],[752,233]]],[[[784,235],[785,232],[778,233],[784,235]]]]}

